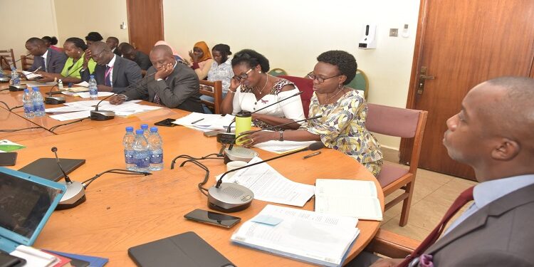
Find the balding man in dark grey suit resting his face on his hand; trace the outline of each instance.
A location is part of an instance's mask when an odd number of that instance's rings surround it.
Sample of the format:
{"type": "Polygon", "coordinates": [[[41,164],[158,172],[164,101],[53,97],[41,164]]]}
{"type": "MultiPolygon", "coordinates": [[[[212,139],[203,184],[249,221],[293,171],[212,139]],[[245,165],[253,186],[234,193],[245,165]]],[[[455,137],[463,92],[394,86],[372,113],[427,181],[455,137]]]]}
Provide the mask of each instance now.
{"type": "Polygon", "coordinates": [[[150,102],[192,112],[202,112],[199,78],[192,68],[174,59],[169,46],[155,46],[150,52],[154,66],[147,71],[141,85],[110,98],[119,105],[125,100],[148,99],[150,102]]]}

